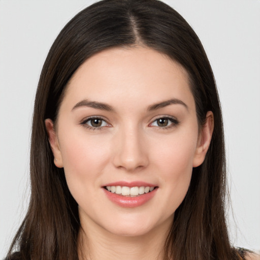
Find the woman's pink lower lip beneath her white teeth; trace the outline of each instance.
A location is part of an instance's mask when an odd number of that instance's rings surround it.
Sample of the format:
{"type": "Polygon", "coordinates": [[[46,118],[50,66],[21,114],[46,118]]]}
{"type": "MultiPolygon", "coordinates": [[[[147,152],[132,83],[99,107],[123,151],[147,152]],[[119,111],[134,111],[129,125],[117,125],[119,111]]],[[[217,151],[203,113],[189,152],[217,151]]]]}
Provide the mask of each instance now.
{"type": "Polygon", "coordinates": [[[153,198],[153,196],[157,191],[157,188],[155,188],[154,190],[139,195],[137,197],[125,197],[125,196],[118,195],[116,193],[112,193],[105,188],[103,189],[110,201],[124,208],[134,208],[134,207],[139,207],[144,205],[146,202],[148,202],[153,198]]]}

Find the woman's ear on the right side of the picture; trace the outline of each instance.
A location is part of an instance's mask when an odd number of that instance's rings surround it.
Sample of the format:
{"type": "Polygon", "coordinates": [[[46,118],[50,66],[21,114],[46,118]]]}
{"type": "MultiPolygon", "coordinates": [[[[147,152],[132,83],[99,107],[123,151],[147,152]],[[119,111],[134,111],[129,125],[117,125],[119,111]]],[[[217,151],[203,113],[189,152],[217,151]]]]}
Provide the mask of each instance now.
{"type": "Polygon", "coordinates": [[[197,148],[193,157],[193,167],[200,166],[209,149],[212,133],[214,128],[214,116],[211,111],[207,112],[205,123],[202,126],[198,137],[197,148]]]}

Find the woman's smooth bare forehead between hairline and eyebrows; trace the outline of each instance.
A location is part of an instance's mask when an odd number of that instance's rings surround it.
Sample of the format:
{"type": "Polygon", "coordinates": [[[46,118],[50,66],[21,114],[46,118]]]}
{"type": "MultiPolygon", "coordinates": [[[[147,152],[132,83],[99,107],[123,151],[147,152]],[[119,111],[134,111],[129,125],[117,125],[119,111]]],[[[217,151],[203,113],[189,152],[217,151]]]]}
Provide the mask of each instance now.
{"type": "Polygon", "coordinates": [[[165,54],[129,47],[111,48],[87,59],[68,83],[63,102],[90,99],[115,106],[127,106],[128,101],[129,106],[133,102],[149,106],[169,98],[193,102],[187,72],[165,54]]]}

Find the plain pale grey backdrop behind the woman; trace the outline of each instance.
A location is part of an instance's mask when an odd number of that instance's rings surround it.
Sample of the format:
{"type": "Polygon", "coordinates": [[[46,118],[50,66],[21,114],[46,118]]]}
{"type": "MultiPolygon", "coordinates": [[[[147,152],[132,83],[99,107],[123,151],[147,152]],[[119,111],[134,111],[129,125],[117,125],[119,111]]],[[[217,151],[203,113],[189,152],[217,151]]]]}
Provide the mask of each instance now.
{"type": "MultiPolygon", "coordinates": [[[[96,1],[0,1],[0,258],[29,197],[32,107],[61,28],[96,1]]],[[[260,1],[173,0],[200,37],[223,108],[235,246],[260,249],[260,1]]]]}

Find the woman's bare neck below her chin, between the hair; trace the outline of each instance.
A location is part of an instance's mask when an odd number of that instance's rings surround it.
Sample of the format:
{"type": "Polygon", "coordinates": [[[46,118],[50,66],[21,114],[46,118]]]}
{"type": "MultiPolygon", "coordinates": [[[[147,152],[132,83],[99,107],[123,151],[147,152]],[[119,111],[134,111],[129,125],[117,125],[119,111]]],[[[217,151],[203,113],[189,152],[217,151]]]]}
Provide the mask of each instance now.
{"type": "Polygon", "coordinates": [[[163,260],[164,245],[171,221],[140,236],[111,234],[96,224],[82,226],[79,233],[79,260],[163,260]]]}

